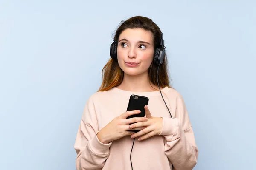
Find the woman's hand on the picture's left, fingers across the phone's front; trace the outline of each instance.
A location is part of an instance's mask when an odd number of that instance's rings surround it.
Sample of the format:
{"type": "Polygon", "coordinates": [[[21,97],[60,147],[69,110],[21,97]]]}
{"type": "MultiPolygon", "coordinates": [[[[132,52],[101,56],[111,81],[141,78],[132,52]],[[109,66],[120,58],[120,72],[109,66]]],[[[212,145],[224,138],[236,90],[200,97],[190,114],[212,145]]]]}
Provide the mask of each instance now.
{"type": "MultiPolygon", "coordinates": [[[[132,135],[133,131],[129,127],[129,124],[136,123],[136,122],[145,122],[148,120],[146,117],[133,117],[126,119],[128,116],[138,114],[140,113],[140,110],[134,110],[134,111],[126,111],[125,113],[122,113],[120,116],[117,116],[114,118],[111,122],[108,123],[105,127],[103,127],[99,132],[97,133],[97,137],[100,142],[103,144],[108,144],[111,141],[117,140],[122,138],[123,136],[132,135]]],[[[137,127],[132,130],[142,130],[145,127],[137,127]]]]}

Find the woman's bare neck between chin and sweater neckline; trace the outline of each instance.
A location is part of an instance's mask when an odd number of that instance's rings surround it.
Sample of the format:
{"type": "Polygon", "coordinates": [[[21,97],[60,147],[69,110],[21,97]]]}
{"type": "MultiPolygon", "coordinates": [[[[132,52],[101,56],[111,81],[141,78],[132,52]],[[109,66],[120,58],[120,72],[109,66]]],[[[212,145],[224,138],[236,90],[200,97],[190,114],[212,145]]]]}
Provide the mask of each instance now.
{"type": "Polygon", "coordinates": [[[117,86],[117,88],[125,91],[148,92],[156,91],[156,89],[158,89],[158,86],[152,85],[150,83],[148,72],[146,71],[145,73],[136,76],[131,76],[124,73],[124,78],[121,84],[117,86]]]}

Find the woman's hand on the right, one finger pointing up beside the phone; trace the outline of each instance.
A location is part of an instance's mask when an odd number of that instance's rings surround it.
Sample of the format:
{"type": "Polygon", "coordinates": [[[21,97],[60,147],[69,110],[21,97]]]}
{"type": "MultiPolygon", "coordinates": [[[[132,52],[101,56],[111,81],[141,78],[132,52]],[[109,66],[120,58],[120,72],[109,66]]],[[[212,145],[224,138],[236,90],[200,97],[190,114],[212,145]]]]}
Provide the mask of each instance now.
{"type": "Polygon", "coordinates": [[[145,114],[148,118],[146,122],[137,122],[130,125],[130,129],[136,127],[145,127],[143,130],[140,130],[137,133],[131,135],[131,138],[136,138],[140,136],[139,140],[147,139],[154,135],[159,135],[163,128],[163,118],[162,117],[152,117],[148,109],[148,106],[145,106],[145,114]],[[142,136],[143,135],[143,136],[142,136]]]}

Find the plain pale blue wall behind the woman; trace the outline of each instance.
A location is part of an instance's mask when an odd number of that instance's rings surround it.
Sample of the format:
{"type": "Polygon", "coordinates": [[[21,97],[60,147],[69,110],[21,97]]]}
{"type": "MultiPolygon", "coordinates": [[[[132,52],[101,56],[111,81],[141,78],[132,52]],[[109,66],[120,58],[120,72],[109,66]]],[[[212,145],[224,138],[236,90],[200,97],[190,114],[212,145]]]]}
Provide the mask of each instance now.
{"type": "Polygon", "coordinates": [[[85,102],[111,35],[135,15],[160,26],[173,87],[199,148],[195,170],[256,161],[256,2],[0,2],[0,170],[75,170],[85,102]]]}

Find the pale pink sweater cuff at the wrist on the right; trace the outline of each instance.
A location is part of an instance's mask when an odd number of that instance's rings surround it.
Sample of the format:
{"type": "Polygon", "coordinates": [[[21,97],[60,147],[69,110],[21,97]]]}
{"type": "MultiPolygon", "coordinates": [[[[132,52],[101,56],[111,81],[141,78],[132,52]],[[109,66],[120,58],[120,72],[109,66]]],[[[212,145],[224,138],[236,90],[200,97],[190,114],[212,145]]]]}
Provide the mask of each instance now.
{"type": "Polygon", "coordinates": [[[177,118],[163,118],[163,128],[159,135],[171,135],[175,136],[179,126],[179,120],[177,118]]]}

